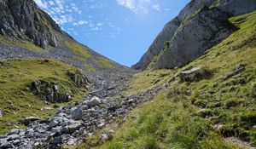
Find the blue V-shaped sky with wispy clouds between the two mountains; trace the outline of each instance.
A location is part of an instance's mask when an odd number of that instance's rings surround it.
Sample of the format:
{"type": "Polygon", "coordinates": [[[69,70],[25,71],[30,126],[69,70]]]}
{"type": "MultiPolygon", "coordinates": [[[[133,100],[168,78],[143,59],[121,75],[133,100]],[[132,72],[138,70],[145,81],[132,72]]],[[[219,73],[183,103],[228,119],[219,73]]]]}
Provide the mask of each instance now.
{"type": "Polygon", "coordinates": [[[135,64],[189,0],[34,0],[80,43],[135,64]]]}

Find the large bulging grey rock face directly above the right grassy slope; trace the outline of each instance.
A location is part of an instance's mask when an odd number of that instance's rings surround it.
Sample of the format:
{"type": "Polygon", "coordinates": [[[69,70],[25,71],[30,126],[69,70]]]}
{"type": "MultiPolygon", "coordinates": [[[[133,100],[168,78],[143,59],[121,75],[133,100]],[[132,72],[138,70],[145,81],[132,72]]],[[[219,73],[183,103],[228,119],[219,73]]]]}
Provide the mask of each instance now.
{"type": "Polygon", "coordinates": [[[161,52],[153,68],[183,66],[200,57],[236,30],[227,18],[228,15],[219,9],[201,9],[195,17],[183,22],[172,37],[170,47],[161,52]]]}

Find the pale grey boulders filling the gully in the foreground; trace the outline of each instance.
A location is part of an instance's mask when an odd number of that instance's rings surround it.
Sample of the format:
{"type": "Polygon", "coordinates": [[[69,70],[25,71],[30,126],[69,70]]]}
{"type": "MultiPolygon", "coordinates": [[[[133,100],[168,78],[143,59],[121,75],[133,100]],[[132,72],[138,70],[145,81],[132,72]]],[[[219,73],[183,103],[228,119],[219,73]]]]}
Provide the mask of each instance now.
{"type": "MultiPolygon", "coordinates": [[[[22,122],[28,125],[27,129],[12,129],[8,135],[1,135],[0,148],[59,148],[78,144],[107,123],[125,117],[137,104],[152,99],[161,89],[165,87],[156,86],[137,95],[111,100],[118,89],[102,81],[100,88],[84,96],[82,102],[61,107],[54,117],[44,120],[38,117],[24,118],[22,122]]],[[[108,139],[111,133],[103,136],[108,139]]]]}

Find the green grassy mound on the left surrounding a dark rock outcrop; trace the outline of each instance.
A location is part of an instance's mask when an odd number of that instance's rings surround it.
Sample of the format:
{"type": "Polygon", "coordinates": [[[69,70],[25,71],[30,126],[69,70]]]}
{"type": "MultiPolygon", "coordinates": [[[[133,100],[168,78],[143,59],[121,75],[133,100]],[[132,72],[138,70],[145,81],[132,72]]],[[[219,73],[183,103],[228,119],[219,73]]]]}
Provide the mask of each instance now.
{"type": "MultiPolygon", "coordinates": [[[[57,109],[40,111],[45,104],[38,96],[32,94],[29,85],[43,79],[58,83],[67,89],[77,89],[67,77],[67,72],[76,72],[72,66],[67,66],[57,60],[3,60],[0,63],[0,109],[4,117],[0,117],[0,133],[6,133],[14,128],[21,117],[38,116],[49,117],[57,109]]],[[[72,101],[81,100],[86,89],[79,89],[72,101]]],[[[67,103],[60,104],[60,106],[67,103]]],[[[23,127],[23,126],[21,126],[23,127]]]]}

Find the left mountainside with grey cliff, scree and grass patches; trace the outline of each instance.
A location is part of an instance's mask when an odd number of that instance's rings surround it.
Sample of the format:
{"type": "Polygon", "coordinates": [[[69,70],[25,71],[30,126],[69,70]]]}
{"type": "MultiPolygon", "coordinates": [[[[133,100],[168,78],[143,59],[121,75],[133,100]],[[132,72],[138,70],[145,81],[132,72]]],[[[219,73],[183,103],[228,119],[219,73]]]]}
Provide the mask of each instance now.
{"type": "Polygon", "coordinates": [[[0,12],[1,58],[55,58],[98,75],[128,70],[75,41],[33,0],[1,0],[0,12]]]}

